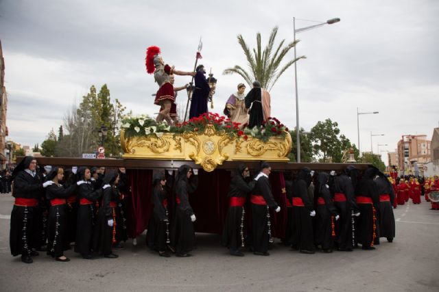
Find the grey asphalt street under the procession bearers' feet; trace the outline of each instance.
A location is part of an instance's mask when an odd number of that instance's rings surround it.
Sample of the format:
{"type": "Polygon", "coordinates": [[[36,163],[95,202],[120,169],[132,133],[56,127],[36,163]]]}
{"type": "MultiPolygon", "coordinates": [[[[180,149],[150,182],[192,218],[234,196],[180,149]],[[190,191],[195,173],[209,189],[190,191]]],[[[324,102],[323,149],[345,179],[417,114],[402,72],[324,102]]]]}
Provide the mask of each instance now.
{"type": "Polygon", "coordinates": [[[21,263],[9,248],[13,198],[0,194],[0,291],[439,291],[439,211],[394,210],[396,238],[376,250],[300,254],[275,242],[270,256],[228,255],[219,236],[197,234],[188,258],[163,258],[129,240],[119,258],[60,263],[40,252],[21,263]]]}

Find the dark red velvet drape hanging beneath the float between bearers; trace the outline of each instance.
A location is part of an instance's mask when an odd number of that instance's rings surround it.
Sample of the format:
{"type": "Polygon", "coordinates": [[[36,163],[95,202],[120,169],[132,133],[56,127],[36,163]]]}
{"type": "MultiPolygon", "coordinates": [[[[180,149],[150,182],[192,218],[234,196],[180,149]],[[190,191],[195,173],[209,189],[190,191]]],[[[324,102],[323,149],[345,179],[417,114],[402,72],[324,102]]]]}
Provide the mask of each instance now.
{"type": "MultiPolygon", "coordinates": [[[[128,170],[127,174],[131,181],[132,200],[132,229],[131,237],[140,235],[147,228],[148,220],[152,212],[151,188],[152,170],[128,170]]],[[[189,202],[197,217],[195,231],[200,233],[222,233],[228,208],[228,187],[230,185],[230,171],[215,170],[213,172],[198,171],[198,188],[193,194],[189,194],[189,202]]],[[[270,210],[272,218],[272,235],[274,237],[285,236],[287,208],[285,207],[285,194],[282,188],[285,181],[281,172],[270,174],[272,193],[274,200],[281,206],[281,212],[274,213],[270,210]]],[[[169,198],[174,196],[169,196],[169,198]]],[[[171,200],[169,207],[172,206],[171,200]]],[[[248,212],[250,209],[247,208],[248,212]]]]}

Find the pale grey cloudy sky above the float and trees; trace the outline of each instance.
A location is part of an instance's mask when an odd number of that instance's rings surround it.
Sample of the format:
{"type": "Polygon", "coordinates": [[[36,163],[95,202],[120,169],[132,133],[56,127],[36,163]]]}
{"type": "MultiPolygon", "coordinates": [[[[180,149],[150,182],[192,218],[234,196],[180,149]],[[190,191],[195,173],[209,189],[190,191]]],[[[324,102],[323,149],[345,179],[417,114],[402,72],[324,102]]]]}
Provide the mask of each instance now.
{"type": "MultiPolygon", "coordinates": [[[[33,146],[62,124],[91,85],[104,83],[134,114],[154,114],[157,85],[145,72],[145,49],[161,47],[165,62],[191,70],[202,36],[202,64],[217,77],[215,109],[221,113],[246,66],[237,43],[263,45],[278,26],[277,42],[296,29],[339,17],[297,35],[300,127],[309,131],[331,118],[361,150],[394,150],[401,135],[439,127],[439,1],[7,1],[0,0],[0,40],[5,58],[9,138],[33,146]],[[300,20],[298,20],[300,19],[300,20]],[[305,21],[306,20],[306,21],[305,21]]],[[[291,59],[294,52],[287,55],[291,59]]],[[[176,85],[189,82],[177,77],[176,85]]],[[[272,116],[296,126],[294,69],[271,91],[272,116]]],[[[180,95],[182,98],[182,94],[180,95]]],[[[183,102],[182,98],[180,103],[183,102]]]]}

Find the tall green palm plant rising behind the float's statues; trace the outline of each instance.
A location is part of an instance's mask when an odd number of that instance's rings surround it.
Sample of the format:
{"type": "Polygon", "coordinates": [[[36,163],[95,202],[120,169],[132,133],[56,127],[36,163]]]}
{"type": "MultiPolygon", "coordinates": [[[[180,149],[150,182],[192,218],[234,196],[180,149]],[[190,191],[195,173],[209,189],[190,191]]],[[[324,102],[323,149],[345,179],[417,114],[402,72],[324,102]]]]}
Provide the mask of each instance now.
{"type": "Polygon", "coordinates": [[[281,41],[281,43],[278,45],[277,49],[274,50],[274,40],[276,38],[276,34],[278,31],[278,27],[274,27],[272,30],[272,33],[270,35],[270,38],[268,40],[267,47],[262,51],[261,50],[261,33],[257,33],[256,35],[256,42],[257,47],[253,49],[253,51],[250,51],[248,45],[246,44],[246,41],[242,37],[241,34],[237,36],[238,42],[241,45],[241,48],[244,51],[244,55],[246,55],[248,67],[251,70],[252,75],[250,75],[244,68],[241,66],[235,65],[233,68],[227,68],[224,70],[224,75],[230,75],[230,74],[239,74],[242,78],[248,83],[248,85],[252,85],[254,80],[257,80],[261,83],[261,87],[265,88],[266,90],[270,91],[273,88],[274,83],[281,77],[283,72],[285,72],[289,66],[292,66],[294,62],[296,62],[298,59],[304,59],[305,56],[296,57],[296,59],[292,59],[291,61],[287,62],[282,68],[281,62],[285,55],[287,55],[288,51],[299,42],[299,40],[294,40],[293,42],[290,42],[285,47],[283,47],[285,43],[285,39],[281,41]]]}

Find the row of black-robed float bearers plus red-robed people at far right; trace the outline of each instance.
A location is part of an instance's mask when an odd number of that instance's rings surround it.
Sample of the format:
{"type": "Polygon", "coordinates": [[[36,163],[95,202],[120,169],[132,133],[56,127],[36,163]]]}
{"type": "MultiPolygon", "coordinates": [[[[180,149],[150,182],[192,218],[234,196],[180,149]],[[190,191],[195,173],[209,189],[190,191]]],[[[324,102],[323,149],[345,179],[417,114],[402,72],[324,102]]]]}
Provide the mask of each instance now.
{"type": "MultiPolygon", "coordinates": [[[[396,185],[377,168],[362,174],[350,165],[344,172],[316,172],[302,168],[283,172],[285,202],[276,202],[270,185],[270,164],[260,170],[240,164],[230,181],[229,207],[224,222],[222,245],[234,256],[244,256],[243,248],[268,256],[272,237],[272,216],[286,206],[285,245],[301,253],[316,250],[352,251],[361,245],[373,250],[380,237],[395,237],[393,208],[420,194],[439,190],[439,180],[419,183],[408,178],[396,185]],[[270,211],[271,209],[271,211],[270,211]],[[251,218],[250,226],[246,224],[251,218]]],[[[147,245],[158,255],[190,256],[195,245],[193,222],[197,219],[189,194],[198,186],[198,170],[182,165],[174,172],[156,172],[151,190],[152,215],[147,227],[147,245]],[[171,196],[172,194],[172,196],[171,196]],[[175,206],[168,209],[169,200],[175,206]]],[[[125,169],[38,168],[36,159],[25,157],[12,172],[15,198],[10,225],[13,256],[32,263],[38,250],[56,261],[66,262],[64,251],[74,243],[82,258],[117,258],[114,248],[128,239],[126,198],[130,185],[125,169]]],[[[285,212],[285,210],[284,210],[285,212]]]]}

